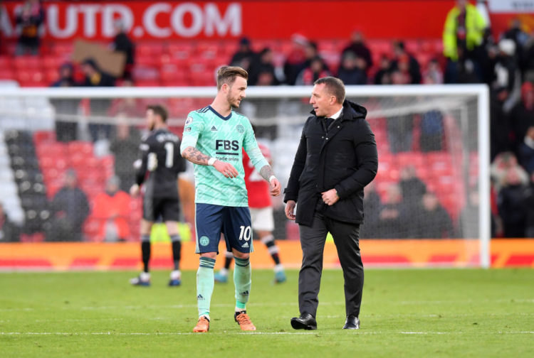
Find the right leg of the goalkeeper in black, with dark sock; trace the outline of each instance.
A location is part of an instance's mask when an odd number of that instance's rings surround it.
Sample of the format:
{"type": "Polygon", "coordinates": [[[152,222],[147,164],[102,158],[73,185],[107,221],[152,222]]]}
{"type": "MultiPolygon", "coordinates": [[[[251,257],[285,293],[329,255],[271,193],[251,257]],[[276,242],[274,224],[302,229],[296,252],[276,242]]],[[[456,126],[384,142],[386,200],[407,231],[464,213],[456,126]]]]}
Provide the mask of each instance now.
{"type": "Polygon", "coordinates": [[[172,245],[172,261],[174,269],[171,272],[169,279],[169,286],[180,286],[182,283],[182,275],[180,273],[180,257],[182,254],[182,239],[178,232],[179,221],[179,202],[178,198],[175,200],[166,200],[162,207],[162,217],[167,226],[167,233],[171,238],[172,245]]]}

